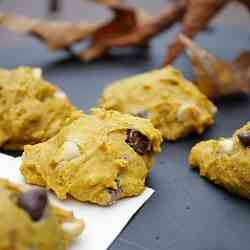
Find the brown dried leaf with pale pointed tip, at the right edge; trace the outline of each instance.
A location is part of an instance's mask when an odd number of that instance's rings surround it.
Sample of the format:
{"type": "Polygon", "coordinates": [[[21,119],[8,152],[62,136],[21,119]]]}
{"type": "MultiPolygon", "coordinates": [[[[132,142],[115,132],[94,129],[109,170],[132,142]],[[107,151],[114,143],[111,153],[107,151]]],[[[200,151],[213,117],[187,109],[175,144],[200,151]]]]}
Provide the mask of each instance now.
{"type": "Polygon", "coordinates": [[[199,47],[184,35],[180,41],[187,47],[199,89],[211,99],[250,93],[250,54],[226,62],[199,47]]]}

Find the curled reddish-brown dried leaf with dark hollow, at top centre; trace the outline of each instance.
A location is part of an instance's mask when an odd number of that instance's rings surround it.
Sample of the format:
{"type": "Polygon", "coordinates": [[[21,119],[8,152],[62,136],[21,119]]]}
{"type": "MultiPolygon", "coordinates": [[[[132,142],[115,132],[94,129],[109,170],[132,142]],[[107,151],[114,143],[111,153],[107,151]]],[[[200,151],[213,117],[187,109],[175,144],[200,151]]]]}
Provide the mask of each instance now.
{"type": "Polygon", "coordinates": [[[112,48],[146,48],[151,38],[183,16],[184,1],[186,0],[178,0],[177,4],[168,6],[159,16],[151,17],[142,10],[125,5],[123,1],[96,0],[109,6],[114,16],[93,34],[91,46],[81,53],[81,58],[93,60],[112,48]]]}

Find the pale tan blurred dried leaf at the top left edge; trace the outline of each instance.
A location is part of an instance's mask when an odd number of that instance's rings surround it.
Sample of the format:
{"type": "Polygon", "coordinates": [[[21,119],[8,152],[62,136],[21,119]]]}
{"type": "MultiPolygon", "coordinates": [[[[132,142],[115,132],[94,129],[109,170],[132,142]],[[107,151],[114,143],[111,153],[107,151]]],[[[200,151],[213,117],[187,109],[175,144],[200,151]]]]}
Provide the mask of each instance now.
{"type": "Polygon", "coordinates": [[[97,29],[97,25],[82,21],[44,21],[11,14],[0,14],[0,26],[35,36],[53,50],[68,48],[89,37],[97,29]]]}

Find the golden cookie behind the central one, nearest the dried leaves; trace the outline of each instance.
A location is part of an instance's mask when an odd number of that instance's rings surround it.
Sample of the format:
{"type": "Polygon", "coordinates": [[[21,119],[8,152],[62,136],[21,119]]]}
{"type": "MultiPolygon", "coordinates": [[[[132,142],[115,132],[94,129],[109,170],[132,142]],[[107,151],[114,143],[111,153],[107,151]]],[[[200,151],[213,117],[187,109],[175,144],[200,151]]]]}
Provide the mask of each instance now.
{"type": "Polygon", "coordinates": [[[216,107],[172,67],[114,82],[100,106],[149,118],[166,140],[202,133],[214,123],[216,107]]]}

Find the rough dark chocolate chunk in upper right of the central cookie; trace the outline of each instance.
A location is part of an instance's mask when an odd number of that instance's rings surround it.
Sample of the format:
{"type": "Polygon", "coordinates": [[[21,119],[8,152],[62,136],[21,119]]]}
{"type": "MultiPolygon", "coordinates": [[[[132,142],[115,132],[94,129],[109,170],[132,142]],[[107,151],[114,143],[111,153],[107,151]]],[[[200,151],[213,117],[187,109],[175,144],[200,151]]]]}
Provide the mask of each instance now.
{"type": "Polygon", "coordinates": [[[140,131],[134,129],[128,129],[126,143],[140,155],[145,155],[151,151],[149,139],[140,131]]]}

